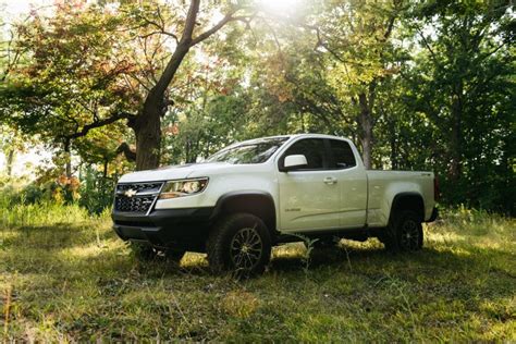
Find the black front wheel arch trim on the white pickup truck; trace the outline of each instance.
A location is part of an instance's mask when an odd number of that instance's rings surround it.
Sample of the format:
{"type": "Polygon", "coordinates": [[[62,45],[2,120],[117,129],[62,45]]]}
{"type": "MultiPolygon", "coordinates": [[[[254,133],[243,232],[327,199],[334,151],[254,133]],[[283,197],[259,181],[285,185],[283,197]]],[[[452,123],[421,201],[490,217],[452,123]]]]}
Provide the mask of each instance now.
{"type": "Polygon", "coordinates": [[[260,191],[231,192],[222,195],[213,209],[212,220],[223,216],[247,212],[260,218],[269,230],[271,237],[277,230],[274,199],[269,193],[260,191]]]}

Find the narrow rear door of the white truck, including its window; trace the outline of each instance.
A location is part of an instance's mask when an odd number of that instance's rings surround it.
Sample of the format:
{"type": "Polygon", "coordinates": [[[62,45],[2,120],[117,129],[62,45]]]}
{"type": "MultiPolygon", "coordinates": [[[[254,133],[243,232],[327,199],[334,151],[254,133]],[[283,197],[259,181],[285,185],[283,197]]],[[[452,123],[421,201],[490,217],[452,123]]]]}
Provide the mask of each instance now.
{"type": "Polygon", "coordinates": [[[367,174],[358,164],[346,140],[328,139],[331,168],[336,175],[341,193],[340,218],[342,229],[361,228],[366,224],[367,174]]]}

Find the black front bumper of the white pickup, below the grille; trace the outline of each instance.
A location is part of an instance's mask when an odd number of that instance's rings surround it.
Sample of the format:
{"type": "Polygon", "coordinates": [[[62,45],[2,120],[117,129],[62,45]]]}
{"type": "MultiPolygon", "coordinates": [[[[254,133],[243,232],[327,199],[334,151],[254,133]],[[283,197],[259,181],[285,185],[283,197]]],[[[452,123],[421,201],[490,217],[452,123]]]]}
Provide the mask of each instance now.
{"type": "Polygon", "coordinates": [[[149,214],[113,211],[113,230],[124,241],[202,250],[214,208],[159,209],[149,214]]]}

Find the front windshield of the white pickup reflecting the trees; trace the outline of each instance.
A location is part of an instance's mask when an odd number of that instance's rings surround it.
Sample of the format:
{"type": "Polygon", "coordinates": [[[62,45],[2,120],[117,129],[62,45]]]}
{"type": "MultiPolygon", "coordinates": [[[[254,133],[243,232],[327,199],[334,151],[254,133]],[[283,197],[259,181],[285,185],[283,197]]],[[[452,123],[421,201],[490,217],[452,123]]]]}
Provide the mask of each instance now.
{"type": "Polygon", "coordinates": [[[288,137],[270,137],[245,142],[216,152],[206,162],[233,164],[266,162],[287,139],[288,137]]]}

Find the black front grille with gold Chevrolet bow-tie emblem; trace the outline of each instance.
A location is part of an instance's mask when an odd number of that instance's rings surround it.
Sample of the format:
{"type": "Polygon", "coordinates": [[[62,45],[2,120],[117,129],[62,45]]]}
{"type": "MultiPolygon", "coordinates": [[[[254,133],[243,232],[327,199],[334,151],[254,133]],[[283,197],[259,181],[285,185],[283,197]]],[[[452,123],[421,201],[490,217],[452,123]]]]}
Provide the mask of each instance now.
{"type": "Polygon", "coordinates": [[[114,210],[146,213],[152,207],[163,185],[157,183],[118,184],[114,210]]]}

